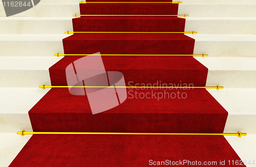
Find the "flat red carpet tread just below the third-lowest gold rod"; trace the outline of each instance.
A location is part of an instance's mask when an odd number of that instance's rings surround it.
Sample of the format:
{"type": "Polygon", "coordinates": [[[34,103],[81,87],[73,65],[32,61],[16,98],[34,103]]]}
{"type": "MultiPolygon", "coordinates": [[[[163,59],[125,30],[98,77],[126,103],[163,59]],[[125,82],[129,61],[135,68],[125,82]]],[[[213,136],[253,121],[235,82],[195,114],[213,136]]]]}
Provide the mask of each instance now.
{"type": "MultiPolygon", "coordinates": [[[[66,69],[66,67],[80,59],[78,56],[66,56],[54,64],[51,69],[66,69]]],[[[101,55],[106,70],[207,70],[205,66],[188,56],[143,56],[143,55],[101,55]],[[180,63],[182,62],[182,63],[180,63]],[[180,63],[180,64],[179,64],[180,63]]],[[[256,60],[256,59],[255,59],[256,60]]]]}

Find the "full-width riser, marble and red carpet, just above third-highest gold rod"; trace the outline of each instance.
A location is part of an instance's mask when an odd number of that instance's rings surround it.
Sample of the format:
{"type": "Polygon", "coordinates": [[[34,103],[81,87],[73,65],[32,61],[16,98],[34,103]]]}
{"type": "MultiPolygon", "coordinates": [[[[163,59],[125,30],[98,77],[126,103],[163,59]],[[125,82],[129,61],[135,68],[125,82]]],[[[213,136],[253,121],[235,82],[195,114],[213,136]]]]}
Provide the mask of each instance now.
{"type": "MultiPolygon", "coordinates": [[[[66,31],[73,31],[71,18],[61,20],[0,20],[0,34],[63,34],[66,31]],[[41,26],[44,24],[44,26],[41,26]],[[54,26],[53,26],[54,25],[54,26]],[[8,29],[5,27],[8,26],[8,29]],[[19,27],[17,29],[16,27],[19,27]],[[37,27],[34,29],[34,27],[37,27]]],[[[182,19],[182,18],[180,18],[182,19]]],[[[113,31],[113,32],[198,32],[202,34],[256,34],[254,25],[255,19],[251,20],[215,20],[215,19],[193,19],[186,17],[186,20],[83,20],[73,19],[74,31],[113,31]],[[185,30],[183,24],[185,24],[185,30]],[[136,25],[136,26],[131,26],[136,25]],[[174,26],[175,25],[175,26],[174,26]],[[219,25],[218,27],[215,25],[219,25]],[[220,28],[221,27],[221,28],[220,28]]]]}

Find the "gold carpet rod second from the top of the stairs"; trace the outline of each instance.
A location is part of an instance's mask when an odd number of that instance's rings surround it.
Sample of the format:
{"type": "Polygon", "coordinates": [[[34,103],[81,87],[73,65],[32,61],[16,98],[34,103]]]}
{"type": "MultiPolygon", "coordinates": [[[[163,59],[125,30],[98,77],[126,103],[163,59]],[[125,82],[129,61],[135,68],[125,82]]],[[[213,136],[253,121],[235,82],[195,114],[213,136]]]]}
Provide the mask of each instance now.
{"type": "Polygon", "coordinates": [[[74,14],[74,17],[79,16],[178,16],[178,17],[187,17],[189,15],[130,15],[130,14],[74,14]]]}

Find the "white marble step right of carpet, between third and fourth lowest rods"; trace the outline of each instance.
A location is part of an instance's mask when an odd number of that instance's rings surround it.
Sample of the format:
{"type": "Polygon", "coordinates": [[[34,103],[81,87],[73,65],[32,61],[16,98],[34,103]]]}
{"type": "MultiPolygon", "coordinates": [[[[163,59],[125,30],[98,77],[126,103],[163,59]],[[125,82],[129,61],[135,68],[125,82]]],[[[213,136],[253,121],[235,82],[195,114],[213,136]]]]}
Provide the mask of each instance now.
{"type": "Polygon", "coordinates": [[[187,35],[196,40],[194,54],[210,57],[255,57],[256,35],[187,35]]]}

